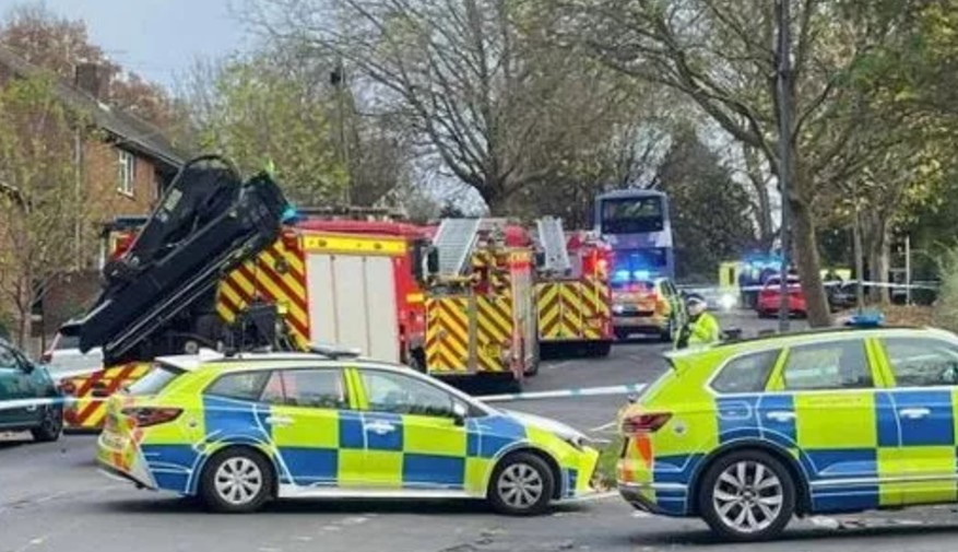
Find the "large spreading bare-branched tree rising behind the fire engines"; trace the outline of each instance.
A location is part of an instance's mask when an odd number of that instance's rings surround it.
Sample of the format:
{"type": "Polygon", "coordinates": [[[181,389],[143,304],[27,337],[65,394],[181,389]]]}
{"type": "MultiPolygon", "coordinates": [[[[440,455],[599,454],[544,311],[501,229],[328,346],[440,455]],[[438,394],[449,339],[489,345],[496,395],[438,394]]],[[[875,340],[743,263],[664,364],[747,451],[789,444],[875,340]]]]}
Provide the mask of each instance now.
{"type": "Polygon", "coordinates": [[[274,40],[343,59],[379,111],[401,115],[494,213],[606,130],[626,96],[588,59],[548,47],[540,13],[502,0],[256,0],[274,40]]]}

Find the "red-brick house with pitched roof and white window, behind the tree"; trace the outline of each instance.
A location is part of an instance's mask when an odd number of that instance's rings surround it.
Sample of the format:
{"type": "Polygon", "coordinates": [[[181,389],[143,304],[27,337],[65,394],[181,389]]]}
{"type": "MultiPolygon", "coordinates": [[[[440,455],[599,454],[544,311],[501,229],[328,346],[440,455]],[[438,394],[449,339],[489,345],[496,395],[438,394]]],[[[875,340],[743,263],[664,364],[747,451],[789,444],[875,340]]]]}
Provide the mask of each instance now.
{"type": "MultiPolygon", "coordinates": [[[[0,47],[0,84],[9,79],[29,78],[43,70],[0,47]]],[[[143,215],[152,211],[161,191],[176,175],[187,155],[175,148],[150,122],[108,105],[105,101],[107,74],[95,64],[81,64],[74,80],[55,83],[63,103],[85,114],[98,132],[78,129],[73,156],[78,177],[94,209],[94,224],[118,215],[143,215]]],[[[35,333],[49,333],[75,314],[97,290],[98,244],[81,239],[78,232],[76,270],[64,285],[49,290],[43,305],[43,324],[35,333]]],[[[0,305],[2,307],[2,305],[0,305]]],[[[2,308],[0,308],[2,310],[2,308]]]]}

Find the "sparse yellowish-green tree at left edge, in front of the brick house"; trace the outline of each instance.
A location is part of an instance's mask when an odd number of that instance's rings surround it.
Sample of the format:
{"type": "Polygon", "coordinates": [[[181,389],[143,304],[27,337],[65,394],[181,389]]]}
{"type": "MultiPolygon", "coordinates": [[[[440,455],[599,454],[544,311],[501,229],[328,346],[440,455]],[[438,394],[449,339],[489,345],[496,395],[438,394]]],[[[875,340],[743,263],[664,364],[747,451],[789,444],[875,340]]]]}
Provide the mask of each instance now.
{"type": "Polygon", "coordinates": [[[68,110],[49,78],[0,87],[0,294],[15,312],[25,345],[32,305],[75,265],[78,232],[87,227],[85,186],[73,164],[82,114],[68,110]]]}

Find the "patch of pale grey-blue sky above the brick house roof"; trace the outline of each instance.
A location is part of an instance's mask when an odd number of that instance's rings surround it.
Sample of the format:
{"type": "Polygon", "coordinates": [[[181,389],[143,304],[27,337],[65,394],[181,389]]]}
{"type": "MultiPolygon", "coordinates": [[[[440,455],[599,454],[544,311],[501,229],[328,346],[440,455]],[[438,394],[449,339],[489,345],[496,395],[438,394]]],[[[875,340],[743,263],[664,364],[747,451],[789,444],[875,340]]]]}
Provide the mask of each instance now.
{"type": "Polygon", "coordinates": [[[168,87],[197,57],[221,57],[248,43],[230,13],[241,0],[0,0],[0,13],[32,2],[84,20],[91,40],[114,61],[168,87]]]}

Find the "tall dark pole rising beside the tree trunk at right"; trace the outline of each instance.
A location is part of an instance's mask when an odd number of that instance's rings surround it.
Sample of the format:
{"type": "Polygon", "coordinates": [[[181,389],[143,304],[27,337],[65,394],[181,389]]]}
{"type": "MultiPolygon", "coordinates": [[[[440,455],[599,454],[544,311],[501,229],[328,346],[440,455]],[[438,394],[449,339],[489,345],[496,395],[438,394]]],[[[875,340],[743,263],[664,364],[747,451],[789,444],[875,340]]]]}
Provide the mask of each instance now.
{"type": "Polygon", "coordinates": [[[789,178],[792,177],[792,122],[791,115],[791,78],[792,78],[792,37],[790,33],[791,15],[789,2],[778,0],[779,44],[778,44],[778,96],[779,96],[779,190],[782,196],[782,267],[781,295],[779,303],[779,331],[789,331],[789,265],[791,231],[789,228],[789,178]]]}

